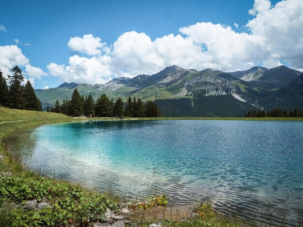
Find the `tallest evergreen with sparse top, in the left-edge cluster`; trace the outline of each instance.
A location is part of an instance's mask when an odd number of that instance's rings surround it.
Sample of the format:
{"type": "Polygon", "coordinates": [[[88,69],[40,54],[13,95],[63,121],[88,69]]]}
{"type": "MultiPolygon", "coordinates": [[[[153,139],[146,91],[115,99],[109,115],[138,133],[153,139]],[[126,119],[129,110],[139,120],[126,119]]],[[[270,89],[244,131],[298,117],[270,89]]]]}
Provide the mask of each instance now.
{"type": "Polygon", "coordinates": [[[23,96],[23,86],[21,83],[24,80],[24,76],[22,74],[22,70],[15,66],[12,69],[13,75],[8,75],[10,79],[10,89],[9,89],[9,97],[10,97],[10,107],[14,109],[23,109],[24,108],[24,96],[23,96]]]}

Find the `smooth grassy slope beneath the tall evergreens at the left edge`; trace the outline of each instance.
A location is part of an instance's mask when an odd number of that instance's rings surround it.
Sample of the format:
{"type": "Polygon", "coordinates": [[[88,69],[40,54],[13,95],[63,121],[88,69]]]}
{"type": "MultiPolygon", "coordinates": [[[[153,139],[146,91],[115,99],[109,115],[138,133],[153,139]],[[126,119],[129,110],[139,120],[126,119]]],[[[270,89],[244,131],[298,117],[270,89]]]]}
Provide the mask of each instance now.
{"type": "Polygon", "coordinates": [[[71,119],[64,114],[47,113],[39,111],[15,110],[0,107],[0,122],[2,121],[34,121],[34,120],[51,120],[51,119],[71,119]]]}

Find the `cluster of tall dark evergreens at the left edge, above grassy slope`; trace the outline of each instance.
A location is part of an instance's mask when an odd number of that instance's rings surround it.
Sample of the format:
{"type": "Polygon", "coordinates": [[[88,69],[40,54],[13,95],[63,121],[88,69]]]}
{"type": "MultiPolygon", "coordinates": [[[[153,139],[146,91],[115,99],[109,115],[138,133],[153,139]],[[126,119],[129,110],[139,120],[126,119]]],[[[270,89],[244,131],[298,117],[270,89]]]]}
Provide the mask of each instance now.
{"type": "Polygon", "coordinates": [[[8,86],[0,70],[0,105],[20,110],[42,111],[41,102],[30,81],[22,85],[25,79],[22,70],[15,66],[11,72],[12,75],[8,75],[8,86]]]}

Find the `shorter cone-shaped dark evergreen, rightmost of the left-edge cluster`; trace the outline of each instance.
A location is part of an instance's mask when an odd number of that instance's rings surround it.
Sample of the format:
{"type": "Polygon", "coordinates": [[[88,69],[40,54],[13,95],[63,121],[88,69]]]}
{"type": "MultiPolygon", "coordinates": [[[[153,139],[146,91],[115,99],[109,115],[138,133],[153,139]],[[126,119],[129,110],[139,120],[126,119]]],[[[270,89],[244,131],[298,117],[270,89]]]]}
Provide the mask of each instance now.
{"type": "Polygon", "coordinates": [[[23,89],[24,95],[24,109],[33,110],[33,111],[42,111],[41,102],[37,98],[34,88],[30,84],[30,81],[26,82],[26,85],[23,89]]]}

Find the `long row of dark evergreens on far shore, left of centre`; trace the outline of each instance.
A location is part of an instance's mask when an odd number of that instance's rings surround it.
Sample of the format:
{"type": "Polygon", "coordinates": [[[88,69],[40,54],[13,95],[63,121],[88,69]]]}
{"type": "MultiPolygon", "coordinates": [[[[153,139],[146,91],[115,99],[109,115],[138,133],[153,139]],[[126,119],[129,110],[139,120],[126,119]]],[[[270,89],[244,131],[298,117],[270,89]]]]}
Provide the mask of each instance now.
{"type": "Polygon", "coordinates": [[[47,112],[65,114],[69,116],[97,116],[97,117],[160,117],[162,111],[153,101],[143,104],[140,98],[128,98],[125,108],[121,98],[115,102],[102,94],[96,101],[91,94],[84,98],[77,89],[74,90],[70,100],[63,100],[62,103],[56,100],[51,107],[46,107],[47,112]]]}

